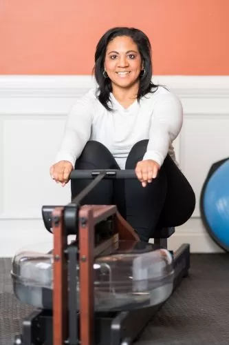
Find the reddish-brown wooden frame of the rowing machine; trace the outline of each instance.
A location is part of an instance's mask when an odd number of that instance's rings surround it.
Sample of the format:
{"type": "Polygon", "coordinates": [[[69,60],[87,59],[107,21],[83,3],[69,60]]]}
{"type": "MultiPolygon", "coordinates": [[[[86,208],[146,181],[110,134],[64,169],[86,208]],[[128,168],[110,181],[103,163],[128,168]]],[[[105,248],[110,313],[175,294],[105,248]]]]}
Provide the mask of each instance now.
{"type": "MultiPolygon", "coordinates": [[[[54,233],[54,289],[53,289],[53,339],[54,345],[63,345],[68,329],[67,295],[67,231],[65,229],[64,208],[53,211],[54,233]]],[[[80,265],[80,344],[94,344],[94,259],[103,250],[126,239],[139,241],[133,228],[118,213],[116,206],[89,205],[78,210],[79,265],[80,265]],[[100,221],[113,216],[115,231],[111,238],[98,246],[94,245],[95,226],[100,221]]]]}

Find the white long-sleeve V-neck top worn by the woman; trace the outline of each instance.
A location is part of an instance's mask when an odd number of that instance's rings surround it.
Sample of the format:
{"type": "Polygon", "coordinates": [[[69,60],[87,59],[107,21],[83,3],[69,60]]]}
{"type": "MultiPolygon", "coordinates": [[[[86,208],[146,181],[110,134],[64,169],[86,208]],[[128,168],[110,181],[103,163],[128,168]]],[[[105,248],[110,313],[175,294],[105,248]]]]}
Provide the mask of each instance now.
{"type": "Polygon", "coordinates": [[[142,139],[149,139],[143,159],[153,159],[162,166],[169,154],[177,164],[173,140],[183,123],[179,98],[159,86],[157,91],[140,99],[140,103],[135,100],[126,109],[112,93],[110,96],[113,112],[106,110],[98,101],[96,89],[77,99],[67,116],[56,161],[67,160],[74,167],[87,141],[96,140],[110,150],[120,168],[124,169],[133,145],[142,139]]]}

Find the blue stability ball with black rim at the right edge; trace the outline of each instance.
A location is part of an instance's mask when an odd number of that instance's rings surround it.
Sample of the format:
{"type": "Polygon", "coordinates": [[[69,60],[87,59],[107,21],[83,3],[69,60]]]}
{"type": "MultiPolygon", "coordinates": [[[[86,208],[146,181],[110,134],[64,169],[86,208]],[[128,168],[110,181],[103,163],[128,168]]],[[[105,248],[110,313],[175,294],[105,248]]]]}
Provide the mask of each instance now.
{"type": "Polygon", "coordinates": [[[212,239],[229,251],[229,159],[214,164],[201,191],[201,217],[212,239]]]}

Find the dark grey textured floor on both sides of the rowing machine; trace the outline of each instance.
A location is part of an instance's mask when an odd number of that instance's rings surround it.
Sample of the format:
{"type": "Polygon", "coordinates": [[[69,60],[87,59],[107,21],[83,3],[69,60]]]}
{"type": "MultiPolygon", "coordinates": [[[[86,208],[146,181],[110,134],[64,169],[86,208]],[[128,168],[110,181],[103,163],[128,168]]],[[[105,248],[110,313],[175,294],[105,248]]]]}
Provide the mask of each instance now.
{"type": "MultiPolygon", "coordinates": [[[[12,294],[10,259],[0,259],[0,344],[12,345],[33,309],[12,294]]],[[[190,277],[151,320],[137,345],[228,345],[229,256],[191,255],[190,277]]]]}

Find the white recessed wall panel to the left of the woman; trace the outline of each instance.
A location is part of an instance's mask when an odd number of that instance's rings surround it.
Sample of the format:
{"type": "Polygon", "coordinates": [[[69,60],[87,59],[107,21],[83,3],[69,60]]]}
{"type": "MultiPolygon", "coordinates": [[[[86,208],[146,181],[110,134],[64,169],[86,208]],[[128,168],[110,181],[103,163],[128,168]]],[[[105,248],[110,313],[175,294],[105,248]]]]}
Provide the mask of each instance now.
{"type": "Polygon", "coordinates": [[[69,201],[68,186],[61,190],[49,175],[64,124],[55,116],[3,118],[2,218],[38,219],[43,204],[69,201]]]}

